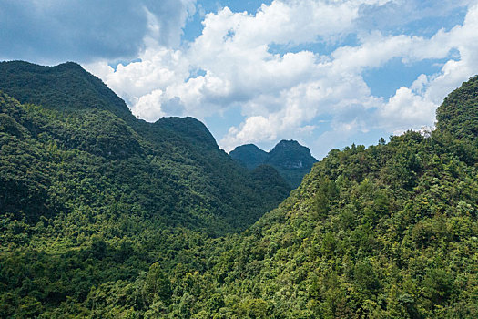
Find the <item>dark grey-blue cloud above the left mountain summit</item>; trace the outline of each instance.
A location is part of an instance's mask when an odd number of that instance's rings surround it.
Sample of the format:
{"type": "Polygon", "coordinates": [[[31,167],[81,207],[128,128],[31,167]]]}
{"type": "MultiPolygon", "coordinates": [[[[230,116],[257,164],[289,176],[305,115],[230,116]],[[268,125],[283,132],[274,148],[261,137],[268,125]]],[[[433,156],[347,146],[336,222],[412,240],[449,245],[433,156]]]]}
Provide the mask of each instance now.
{"type": "Polygon", "coordinates": [[[196,0],[0,2],[0,58],[41,63],[135,57],[154,38],[177,46],[196,0]]]}

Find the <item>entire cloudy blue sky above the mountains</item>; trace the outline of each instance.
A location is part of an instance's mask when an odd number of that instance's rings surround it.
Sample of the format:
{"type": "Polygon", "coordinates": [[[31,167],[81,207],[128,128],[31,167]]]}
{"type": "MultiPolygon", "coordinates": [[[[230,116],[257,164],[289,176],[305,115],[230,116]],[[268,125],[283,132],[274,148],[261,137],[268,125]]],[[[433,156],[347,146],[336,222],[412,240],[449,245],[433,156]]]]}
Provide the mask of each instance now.
{"type": "Polygon", "coordinates": [[[147,121],[320,159],[432,129],[478,74],[478,0],[0,0],[0,60],[75,61],[147,121]]]}

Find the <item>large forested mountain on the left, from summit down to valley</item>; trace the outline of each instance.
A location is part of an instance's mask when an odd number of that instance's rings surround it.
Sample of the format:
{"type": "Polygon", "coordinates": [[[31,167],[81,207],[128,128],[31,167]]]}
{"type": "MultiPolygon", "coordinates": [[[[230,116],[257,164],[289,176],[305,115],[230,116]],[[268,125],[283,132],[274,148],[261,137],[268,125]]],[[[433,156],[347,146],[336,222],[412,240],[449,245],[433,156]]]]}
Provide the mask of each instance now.
{"type": "Polygon", "coordinates": [[[0,317],[64,317],[92,287],[198,263],[190,247],[290,192],[195,118],[138,120],[74,63],[0,63],[0,148],[0,317]]]}

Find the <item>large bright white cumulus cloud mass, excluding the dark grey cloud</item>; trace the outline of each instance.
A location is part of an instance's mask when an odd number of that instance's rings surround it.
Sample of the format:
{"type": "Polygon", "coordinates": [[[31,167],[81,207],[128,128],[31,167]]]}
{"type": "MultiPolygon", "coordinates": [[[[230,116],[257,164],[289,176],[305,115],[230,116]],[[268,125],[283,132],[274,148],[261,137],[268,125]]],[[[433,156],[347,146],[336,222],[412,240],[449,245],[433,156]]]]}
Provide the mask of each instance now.
{"type": "Polygon", "coordinates": [[[116,69],[106,62],[87,67],[147,120],[178,114],[206,118],[240,108],[244,120],[219,137],[227,150],[249,142],[311,139],[322,128],[326,132],[316,136],[328,147],[331,140],[354,132],[420,129],[433,124],[434,111],[448,92],[478,72],[478,6],[471,1],[433,6],[420,1],[275,0],[255,14],[224,7],[205,15],[202,24],[202,34],[188,46],[152,40],[138,62],[116,69]],[[413,13],[409,21],[445,15],[438,9],[467,13],[455,26],[422,35],[389,32],[386,27],[395,26],[393,21],[381,22],[383,29],[381,24],[370,28],[371,22],[381,21],[377,13],[382,10],[402,15],[411,4],[428,9],[422,16],[413,13]],[[334,49],[321,52],[314,44],[334,49]],[[271,49],[277,45],[282,52],[271,49]],[[403,65],[436,60],[442,68],[417,77],[410,87],[397,87],[391,98],[373,96],[364,72],[396,58],[403,65]]]}

